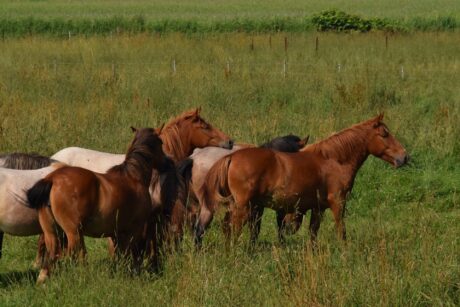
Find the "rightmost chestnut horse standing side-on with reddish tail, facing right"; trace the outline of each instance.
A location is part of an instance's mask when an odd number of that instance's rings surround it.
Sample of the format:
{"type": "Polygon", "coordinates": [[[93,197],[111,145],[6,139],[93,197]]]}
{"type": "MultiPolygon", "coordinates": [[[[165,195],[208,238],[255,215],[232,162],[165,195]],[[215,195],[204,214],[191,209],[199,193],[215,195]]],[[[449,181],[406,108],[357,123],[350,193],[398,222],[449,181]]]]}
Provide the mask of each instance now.
{"type": "Polygon", "coordinates": [[[250,148],[222,158],[209,171],[202,187],[195,242],[200,245],[218,202],[229,199],[227,237],[237,238],[249,221],[251,242],[260,231],[264,207],[305,214],[312,210],[313,246],[321,218],[332,210],[338,234],[345,239],[345,201],[355,176],[369,155],[400,167],[408,154],[382,122],[383,115],[354,125],[298,153],[250,148]]]}

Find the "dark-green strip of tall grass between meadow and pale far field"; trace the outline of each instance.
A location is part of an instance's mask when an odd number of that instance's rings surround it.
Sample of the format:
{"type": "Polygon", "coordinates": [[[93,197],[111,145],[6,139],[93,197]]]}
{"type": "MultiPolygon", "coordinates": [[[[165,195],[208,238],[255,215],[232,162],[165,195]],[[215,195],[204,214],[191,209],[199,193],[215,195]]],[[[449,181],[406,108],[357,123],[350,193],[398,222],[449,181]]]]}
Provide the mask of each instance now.
{"type": "MultiPolygon", "coordinates": [[[[451,15],[434,18],[410,17],[406,19],[373,18],[366,23],[365,31],[380,30],[385,32],[413,31],[455,31],[460,27],[458,19],[451,15]]],[[[354,25],[352,25],[354,26],[354,25]]],[[[364,28],[360,28],[363,31],[364,28]]],[[[110,18],[0,18],[0,35],[5,37],[24,37],[43,35],[67,38],[75,35],[105,35],[120,33],[277,33],[306,32],[323,28],[313,16],[303,17],[264,17],[232,18],[224,20],[167,19],[148,20],[144,15],[134,17],[115,16],[110,18]]],[[[345,28],[347,29],[347,28],[345,28]]],[[[354,29],[352,27],[351,29],[354,29]]]]}

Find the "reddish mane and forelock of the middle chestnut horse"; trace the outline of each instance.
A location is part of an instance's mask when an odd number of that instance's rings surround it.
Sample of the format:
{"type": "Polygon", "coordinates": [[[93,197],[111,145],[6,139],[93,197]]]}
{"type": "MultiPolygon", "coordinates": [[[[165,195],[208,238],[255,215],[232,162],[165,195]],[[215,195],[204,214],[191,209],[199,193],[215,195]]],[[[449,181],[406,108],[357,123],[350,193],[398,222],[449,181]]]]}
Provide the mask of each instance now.
{"type": "Polygon", "coordinates": [[[197,115],[195,110],[186,111],[176,118],[171,119],[161,130],[160,138],[163,141],[165,153],[175,161],[182,160],[188,156],[187,149],[184,148],[180,136],[179,124],[193,116],[199,115],[197,115]]]}

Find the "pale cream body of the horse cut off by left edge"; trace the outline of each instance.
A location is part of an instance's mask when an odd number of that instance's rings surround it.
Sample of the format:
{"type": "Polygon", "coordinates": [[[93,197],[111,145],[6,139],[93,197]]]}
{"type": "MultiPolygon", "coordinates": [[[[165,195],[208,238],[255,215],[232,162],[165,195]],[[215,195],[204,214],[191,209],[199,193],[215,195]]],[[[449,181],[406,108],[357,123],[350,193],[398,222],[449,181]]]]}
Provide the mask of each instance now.
{"type": "Polygon", "coordinates": [[[27,206],[26,191],[60,166],[53,164],[37,170],[0,168],[0,231],[15,236],[42,232],[37,210],[27,206]]]}

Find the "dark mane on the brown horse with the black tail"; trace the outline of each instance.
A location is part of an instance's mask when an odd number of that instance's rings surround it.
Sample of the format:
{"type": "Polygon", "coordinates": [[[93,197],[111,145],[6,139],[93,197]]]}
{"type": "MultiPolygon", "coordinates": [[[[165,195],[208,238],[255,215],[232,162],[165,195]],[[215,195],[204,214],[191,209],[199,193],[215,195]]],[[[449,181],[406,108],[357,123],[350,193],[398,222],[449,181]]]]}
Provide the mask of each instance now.
{"type": "Polygon", "coordinates": [[[156,146],[161,146],[161,142],[152,128],[137,130],[126,153],[125,161],[120,165],[115,165],[107,173],[129,174],[148,186],[152,177],[153,161],[158,159],[154,156],[156,146]]]}

